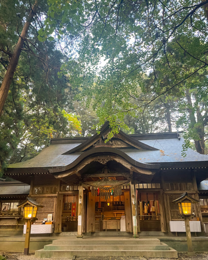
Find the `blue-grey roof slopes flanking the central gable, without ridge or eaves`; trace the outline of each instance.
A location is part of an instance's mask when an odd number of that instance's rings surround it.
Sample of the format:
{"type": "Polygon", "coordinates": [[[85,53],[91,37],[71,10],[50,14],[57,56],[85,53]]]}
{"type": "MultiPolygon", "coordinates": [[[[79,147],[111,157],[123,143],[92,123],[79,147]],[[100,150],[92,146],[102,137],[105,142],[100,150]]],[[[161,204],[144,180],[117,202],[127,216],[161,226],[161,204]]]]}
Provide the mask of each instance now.
{"type": "MultiPolygon", "coordinates": [[[[135,137],[136,138],[136,137],[135,137]]],[[[181,155],[183,150],[183,138],[178,140],[177,138],[168,139],[148,139],[141,140],[144,144],[159,149],[158,151],[151,150],[139,150],[136,148],[120,148],[124,153],[135,161],[142,163],[165,163],[165,162],[194,162],[194,161],[208,161],[208,155],[199,154],[192,149],[186,151],[186,157],[181,155]]],[[[34,157],[33,159],[11,164],[8,168],[32,168],[32,167],[62,167],[69,165],[75,159],[77,159],[81,153],[65,154],[63,153],[73,149],[80,145],[80,143],[52,143],[49,147],[43,149],[43,151],[34,157]]],[[[96,148],[94,148],[96,149],[96,148]]]]}

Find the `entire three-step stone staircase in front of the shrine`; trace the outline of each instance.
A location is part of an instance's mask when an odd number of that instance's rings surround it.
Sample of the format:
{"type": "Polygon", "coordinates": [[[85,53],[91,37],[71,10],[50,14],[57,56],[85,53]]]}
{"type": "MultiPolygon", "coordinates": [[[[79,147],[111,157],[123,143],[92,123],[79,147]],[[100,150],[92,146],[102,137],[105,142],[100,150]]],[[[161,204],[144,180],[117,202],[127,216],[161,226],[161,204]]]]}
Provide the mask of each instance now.
{"type": "Polygon", "coordinates": [[[145,256],[177,258],[178,253],[157,238],[128,237],[62,237],[43,249],[35,251],[35,257],[70,258],[87,256],[145,256]]]}

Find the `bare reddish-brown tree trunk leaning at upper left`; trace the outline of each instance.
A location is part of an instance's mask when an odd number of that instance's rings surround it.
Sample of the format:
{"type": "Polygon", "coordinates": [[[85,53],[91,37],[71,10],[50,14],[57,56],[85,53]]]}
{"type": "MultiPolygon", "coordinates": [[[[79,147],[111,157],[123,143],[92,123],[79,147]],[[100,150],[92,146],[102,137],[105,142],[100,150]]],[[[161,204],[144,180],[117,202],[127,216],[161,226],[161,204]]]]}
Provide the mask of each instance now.
{"type": "Polygon", "coordinates": [[[19,60],[19,57],[20,57],[20,54],[21,54],[21,50],[22,50],[22,47],[23,47],[24,40],[26,38],[28,29],[30,27],[32,18],[34,16],[36,10],[37,10],[37,0],[35,1],[34,5],[32,7],[32,10],[29,13],[29,16],[27,18],[27,22],[24,24],[24,27],[22,29],[22,33],[21,33],[19,40],[16,44],[14,53],[11,57],[11,60],[10,60],[9,66],[8,66],[8,69],[6,71],[4,79],[2,81],[2,85],[1,85],[1,88],[0,88],[0,116],[2,115],[4,103],[6,101],[6,98],[7,98],[8,92],[9,92],[9,87],[10,87],[12,79],[14,77],[15,69],[17,67],[17,63],[18,63],[18,60],[19,60]]]}

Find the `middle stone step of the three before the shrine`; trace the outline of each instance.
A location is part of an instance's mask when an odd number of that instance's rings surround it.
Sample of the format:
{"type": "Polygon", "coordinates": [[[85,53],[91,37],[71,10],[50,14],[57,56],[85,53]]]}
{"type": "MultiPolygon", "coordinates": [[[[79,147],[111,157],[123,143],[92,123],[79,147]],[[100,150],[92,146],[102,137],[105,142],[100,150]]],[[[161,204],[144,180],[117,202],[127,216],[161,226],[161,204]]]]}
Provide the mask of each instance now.
{"type": "Polygon", "coordinates": [[[161,245],[45,245],[44,250],[123,250],[125,247],[125,250],[168,250],[168,245],[161,243],[161,245]]]}

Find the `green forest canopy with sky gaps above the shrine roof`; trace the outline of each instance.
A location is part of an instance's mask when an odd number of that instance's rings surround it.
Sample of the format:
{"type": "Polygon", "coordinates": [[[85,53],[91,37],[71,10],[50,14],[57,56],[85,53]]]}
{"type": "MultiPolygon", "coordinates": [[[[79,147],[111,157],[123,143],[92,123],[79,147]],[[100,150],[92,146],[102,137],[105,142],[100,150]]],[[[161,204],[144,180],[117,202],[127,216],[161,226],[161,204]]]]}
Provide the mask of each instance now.
{"type": "Polygon", "coordinates": [[[1,0],[1,174],[107,120],[207,154],[207,25],[208,0],[1,0]]]}

